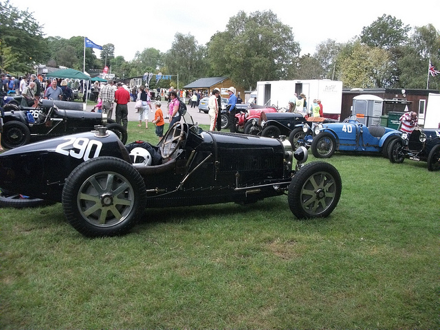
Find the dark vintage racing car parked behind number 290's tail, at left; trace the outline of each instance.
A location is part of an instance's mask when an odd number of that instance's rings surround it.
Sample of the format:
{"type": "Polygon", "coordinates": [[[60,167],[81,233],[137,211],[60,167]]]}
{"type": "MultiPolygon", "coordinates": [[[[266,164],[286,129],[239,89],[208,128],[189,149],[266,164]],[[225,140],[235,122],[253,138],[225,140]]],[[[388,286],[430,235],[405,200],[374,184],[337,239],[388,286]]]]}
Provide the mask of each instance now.
{"type": "Polygon", "coordinates": [[[61,135],[87,132],[96,125],[106,125],[122,143],[126,143],[126,129],[102,113],[83,111],[78,102],[41,100],[39,107],[4,106],[1,145],[12,149],[30,142],[50,139],[61,135]]]}

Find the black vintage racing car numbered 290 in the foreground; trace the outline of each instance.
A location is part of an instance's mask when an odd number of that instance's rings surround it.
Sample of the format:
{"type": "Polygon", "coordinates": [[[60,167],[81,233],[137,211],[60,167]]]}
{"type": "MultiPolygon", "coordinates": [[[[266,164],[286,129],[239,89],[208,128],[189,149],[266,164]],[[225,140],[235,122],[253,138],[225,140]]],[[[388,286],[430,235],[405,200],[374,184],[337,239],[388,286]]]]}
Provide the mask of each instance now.
{"type": "Polygon", "coordinates": [[[157,146],[124,146],[99,127],[2,153],[0,187],[63,203],[85,236],[124,234],[147,207],[254,203],[283,194],[296,217],[328,217],[340,199],[340,175],[325,162],[303,166],[306,160],[307,149],[293,153],[287,140],[197,124],[176,123],[157,146]]]}

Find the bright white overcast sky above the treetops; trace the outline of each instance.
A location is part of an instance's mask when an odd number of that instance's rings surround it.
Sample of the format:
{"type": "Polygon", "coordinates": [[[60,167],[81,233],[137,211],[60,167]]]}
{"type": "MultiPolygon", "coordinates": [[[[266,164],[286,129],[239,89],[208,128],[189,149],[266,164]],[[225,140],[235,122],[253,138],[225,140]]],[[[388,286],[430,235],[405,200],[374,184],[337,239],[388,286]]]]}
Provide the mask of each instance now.
{"type": "MultiPolygon", "coordinates": [[[[431,23],[440,30],[440,1],[322,1],[322,0],[241,0],[241,1],[53,1],[11,2],[28,10],[44,25],[47,36],[87,36],[98,45],[113,43],[115,56],[133,60],[137,51],[153,47],[166,52],[176,32],[192,34],[199,45],[224,31],[230,17],[239,10],[272,10],[282,23],[292,27],[301,54],[314,54],[316,45],[327,39],[347,42],[382,14],[390,14],[405,25],[431,23]],[[215,3],[215,5],[213,5],[215,3]],[[362,4],[364,3],[364,4],[362,4]]],[[[99,57],[99,50],[94,50],[99,57]]]]}

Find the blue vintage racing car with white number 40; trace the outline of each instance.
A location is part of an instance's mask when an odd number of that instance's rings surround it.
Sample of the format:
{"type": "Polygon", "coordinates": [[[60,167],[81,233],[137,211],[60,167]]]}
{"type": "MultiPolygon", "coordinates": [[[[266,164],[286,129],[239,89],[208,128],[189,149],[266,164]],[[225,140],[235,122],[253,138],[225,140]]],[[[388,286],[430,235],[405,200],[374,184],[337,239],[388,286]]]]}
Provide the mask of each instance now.
{"type": "MultiPolygon", "coordinates": [[[[382,126],[364,126],[358,120],[318,124],[311,142],[311,152],[329,158],[335,151],[376,152],[388,157],[388,145],[399,140],[401,132],[382,126]]],[[[310,142],[309,142],[310,143],[310,142]]]]}

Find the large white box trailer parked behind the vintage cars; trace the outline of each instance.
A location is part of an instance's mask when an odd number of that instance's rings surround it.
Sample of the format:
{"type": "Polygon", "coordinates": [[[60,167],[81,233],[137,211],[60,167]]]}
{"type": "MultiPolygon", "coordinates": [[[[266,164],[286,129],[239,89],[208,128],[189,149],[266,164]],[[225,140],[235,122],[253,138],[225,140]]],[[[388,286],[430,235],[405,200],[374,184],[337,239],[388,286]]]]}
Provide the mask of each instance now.
{"type": "Polygon", "coordinates": [[[256,83],[256,104],[272,105],[278,109],[289,107],[289,100],[305,94],[307,108],[320,99],[325,115],[338,117],[342,107],[342,81],[339,80],[275,80],[256,83]]]}

